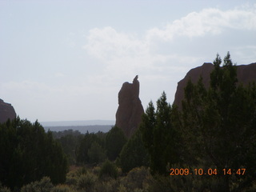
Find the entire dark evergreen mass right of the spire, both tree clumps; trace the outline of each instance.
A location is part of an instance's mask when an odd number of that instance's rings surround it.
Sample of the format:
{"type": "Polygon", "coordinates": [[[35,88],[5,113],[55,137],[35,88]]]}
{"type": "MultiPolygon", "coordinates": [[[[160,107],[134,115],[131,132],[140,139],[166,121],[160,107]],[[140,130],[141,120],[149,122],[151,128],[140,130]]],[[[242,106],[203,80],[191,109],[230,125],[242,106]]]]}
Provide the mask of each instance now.
{"type": "Polygon", "coordinates": [[[142,118],[142,138],[153,174],[167,175],[166,167],[217,170],[215,177],[182,178],[186,181],[182,186],[201,183],[190,185],[190,190],[242,191],[256,178],[255,82],[238,84],[230,53],[221,64],[217,55],[209,87],[202,78],[195,85],[187,83],[182,110],[171,107],[163,93],[157,110],[150,102],[142,118]]]}

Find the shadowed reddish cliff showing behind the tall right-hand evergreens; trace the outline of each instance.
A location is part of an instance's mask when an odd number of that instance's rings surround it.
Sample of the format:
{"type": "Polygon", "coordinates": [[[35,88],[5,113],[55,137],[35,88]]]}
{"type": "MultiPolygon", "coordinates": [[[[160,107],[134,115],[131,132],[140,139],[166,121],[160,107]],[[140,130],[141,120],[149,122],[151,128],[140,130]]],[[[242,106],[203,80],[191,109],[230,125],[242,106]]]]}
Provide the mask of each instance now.
{"type": "MultiPolygon", "coordinates": [[[[198,66],[190,70],[185,78],[178,82],[177,90],[175,93],[174,104],[178,109],[182,109],[182,99],[184,98],[184,88],[186,83],[191,78],[191,82],[197,83],[200,75],[202,75],[202,82],[207,88],[210,86],[210,73],[214,70],[214,65],[205,62],[202,66],[198,66]]],[[[249,82],[256,82],[256,62],[250,65],[237,66],[238,83],[247,85],[249,82]]]]}

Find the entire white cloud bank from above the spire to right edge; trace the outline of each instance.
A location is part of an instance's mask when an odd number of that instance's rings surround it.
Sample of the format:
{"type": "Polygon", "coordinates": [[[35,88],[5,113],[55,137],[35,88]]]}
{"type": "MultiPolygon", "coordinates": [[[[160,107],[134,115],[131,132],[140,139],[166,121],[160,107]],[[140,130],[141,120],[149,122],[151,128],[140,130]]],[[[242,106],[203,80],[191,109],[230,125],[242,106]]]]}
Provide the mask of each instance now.
{"type": "Polygon", "coordinates": [[[110,26],[94,28],[89,32],[84,48],[88,54],[105,63],[108,70],[128,73],[135,69],[154,69],[155,63],[173,58],[178,62],[188,61],[186,58],[196,62],[196,57],[158,52],[159,40],[169,42],[175,37],[218,35],[227,29],[256,30],[256,7],[244,6],[233,10],[210,8],[192,12],[167,24],[163,29],[154,27],[147,30],[142,38],[118,32],[110,26]]]}

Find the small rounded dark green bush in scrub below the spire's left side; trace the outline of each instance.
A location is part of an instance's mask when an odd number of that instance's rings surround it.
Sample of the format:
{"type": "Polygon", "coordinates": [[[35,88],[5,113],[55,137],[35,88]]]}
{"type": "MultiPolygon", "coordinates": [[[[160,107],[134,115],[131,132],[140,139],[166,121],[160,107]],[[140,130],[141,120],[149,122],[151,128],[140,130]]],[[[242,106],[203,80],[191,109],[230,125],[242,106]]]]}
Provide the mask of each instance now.
{"type": "Polygon", "coordinates": [[[99,178],[110,177],[117,178],[118,177],[118,168],[114,165],[114,162],[110,162],[106,160],[101,167],[99,172],[99,178]]]}

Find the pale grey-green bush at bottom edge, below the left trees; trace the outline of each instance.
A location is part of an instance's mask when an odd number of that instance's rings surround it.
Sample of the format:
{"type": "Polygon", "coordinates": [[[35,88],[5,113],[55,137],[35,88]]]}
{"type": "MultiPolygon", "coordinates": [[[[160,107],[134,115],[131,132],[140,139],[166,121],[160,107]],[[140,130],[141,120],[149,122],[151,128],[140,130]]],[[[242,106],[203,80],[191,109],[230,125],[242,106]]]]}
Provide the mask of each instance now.
{"type": "Polygon", "coordinates": [[[30,184],[22,186],[21,192],[50,192],[53,187],[50,178],[44,177],[39,182],[30,182],[30,184]]]}

